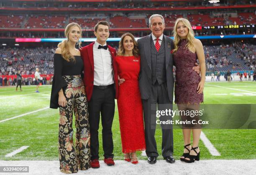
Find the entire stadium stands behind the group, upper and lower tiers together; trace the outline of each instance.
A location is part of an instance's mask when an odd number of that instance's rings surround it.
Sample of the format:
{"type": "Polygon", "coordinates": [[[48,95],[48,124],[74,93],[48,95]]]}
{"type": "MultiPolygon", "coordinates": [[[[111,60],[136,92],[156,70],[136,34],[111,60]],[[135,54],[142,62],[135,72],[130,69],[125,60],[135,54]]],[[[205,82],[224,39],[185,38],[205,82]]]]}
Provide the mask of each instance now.
{"type": "MultiPolygon", "coordinates": [[[[193,26],[202,26],[202,30],[195,30],[196,36],[253,34],[256,23],[254,6],[250,0],[221,1],[217,6],[205,0],[168,2],[126,0],[125,3],[119,0],[76,3],[2,0],[0,2],[0,39],[7,41],[10,38],[64,38],[64,27],[71,22],[82,26],[83,38],[95,38],[93,28],[100,20],[107,20],[110,23],[111,38],[120,37],[128,31],[136,37],[142,37],[151,32],[148,29],[148,18],[153,13],[164,16],[165,34],[168,36],[172,36],[174,21],[181,17],[191,21],[193,26]],[[205,7],[216,9],[204,9],[205,7]],[[177,8],[179,10],[176,10],[177,8]],[[220,25],[250,25],[250,27],[218,28],[220,25]]],[[[217,46],[212,46],[211,41],[204,42],[207,71],[255,69],[255,45],[249,44],[252,42],[236,41],[231,45],[220,42],[217,46]]],[[[113,44],[117,47],[117,43],[113,44]]],[[[55,48],[37,46],[9,48],[9,46],[0,47],[0,74],[13,74],[18,69],[22,70],[22,74],[33,74],[36,67],[44,73],[53,73],[52,58],[55,48]]]]}

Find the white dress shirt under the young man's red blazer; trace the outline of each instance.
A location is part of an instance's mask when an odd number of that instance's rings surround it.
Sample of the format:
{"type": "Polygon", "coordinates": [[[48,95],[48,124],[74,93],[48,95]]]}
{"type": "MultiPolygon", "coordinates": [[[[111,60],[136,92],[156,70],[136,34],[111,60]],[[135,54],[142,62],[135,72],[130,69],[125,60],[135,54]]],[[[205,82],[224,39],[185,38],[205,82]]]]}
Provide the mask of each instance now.
{"type": "MultiPolygon", "coordinates": [[[[93,45],[94,85],[107,86],[114,83],[112,57],[109,49],[98,49],[100,44],[95,41],[93,45]]],[[[103,46],[106,46],[105,43],[103,46]]]]}

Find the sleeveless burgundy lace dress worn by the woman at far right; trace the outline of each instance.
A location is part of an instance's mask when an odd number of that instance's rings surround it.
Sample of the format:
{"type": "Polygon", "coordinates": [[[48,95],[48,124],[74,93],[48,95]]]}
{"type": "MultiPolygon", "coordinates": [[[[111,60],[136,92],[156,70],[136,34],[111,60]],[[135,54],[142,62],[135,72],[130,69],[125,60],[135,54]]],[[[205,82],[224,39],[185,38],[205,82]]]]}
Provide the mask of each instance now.
{"type": "Polygon", "coordinates": [[[175,103],[200,104],[203,102],[203,93],[197,94],[197,86],[201,81],[201,76],[192,70],[197,62],[197,54],[189,51],[186,44],[186,39],[180,41],[178,50],[174,54],[176,66],[175,103]]]}

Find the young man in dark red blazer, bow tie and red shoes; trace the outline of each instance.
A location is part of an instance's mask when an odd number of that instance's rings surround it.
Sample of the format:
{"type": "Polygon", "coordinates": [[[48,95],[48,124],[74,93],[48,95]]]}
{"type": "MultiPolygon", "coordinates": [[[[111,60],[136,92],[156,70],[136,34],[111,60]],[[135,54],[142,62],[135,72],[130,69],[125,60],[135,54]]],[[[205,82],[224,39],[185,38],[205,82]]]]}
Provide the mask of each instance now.
{"type": "Polygon", "coordinates": [[[109,166],[115,165],[111,128],[115,114],[115,96],[118,94],[118,75],[113,61],[116,55],[115,48],[106,43],[109,37],[109,23],[100,21],[94,30],[97,40],[81,48],[80,52],[84,62],[84,85],[89,111],[91,167],[99,168],[100,114],[104,162],[109,166]]]}

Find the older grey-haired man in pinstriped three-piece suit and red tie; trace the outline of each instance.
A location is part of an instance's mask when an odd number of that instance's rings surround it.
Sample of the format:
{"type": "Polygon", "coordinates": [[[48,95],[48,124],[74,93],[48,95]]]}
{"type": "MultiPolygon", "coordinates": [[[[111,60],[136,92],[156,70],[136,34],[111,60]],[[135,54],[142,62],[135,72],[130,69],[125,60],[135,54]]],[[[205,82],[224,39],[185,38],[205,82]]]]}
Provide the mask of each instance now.
{"type": "MultiPolygon", "coordinates": [[[[171,38],[163,34],[165,24],[162,15],[154,14],[149,18],[152,33],[138,40],[141,55],[139,85],[143,102],[145,123],[146,154],[150,164],[156,163],[156,104],[158,110],[172,110],[173,101],[173,59],[174,44],[171,38]]],[[[172,119],[161,116],[160,121],[172,119]]],[[[162,155],[169,163],[174,163],[172,124],[161,124],[162,155]]]]}

